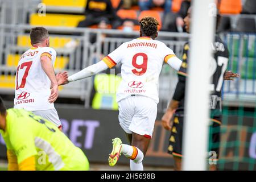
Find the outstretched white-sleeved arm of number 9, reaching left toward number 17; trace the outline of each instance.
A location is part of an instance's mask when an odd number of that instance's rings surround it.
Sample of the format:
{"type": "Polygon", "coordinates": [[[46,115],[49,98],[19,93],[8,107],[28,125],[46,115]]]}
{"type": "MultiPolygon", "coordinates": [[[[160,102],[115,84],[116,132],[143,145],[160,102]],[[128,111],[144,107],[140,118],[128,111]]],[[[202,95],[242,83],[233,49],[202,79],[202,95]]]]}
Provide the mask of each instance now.
{"type": "Polygon", "coordinates": [[[77,72],[74,75],[69,76],[68,81],[65,82],[65,84],[68,84],[71,81],[77,81],[77,80],[81,80],[83,78],[87,78],[87,77],[96,75],[97,73],[100,73],[107,68],[109,68],[108,65],[106,65],[106,63],[104,63],[104,61],[100,61],[96,64],[90,65],[87,68],[82,69],[80,72],[77,72]]]}

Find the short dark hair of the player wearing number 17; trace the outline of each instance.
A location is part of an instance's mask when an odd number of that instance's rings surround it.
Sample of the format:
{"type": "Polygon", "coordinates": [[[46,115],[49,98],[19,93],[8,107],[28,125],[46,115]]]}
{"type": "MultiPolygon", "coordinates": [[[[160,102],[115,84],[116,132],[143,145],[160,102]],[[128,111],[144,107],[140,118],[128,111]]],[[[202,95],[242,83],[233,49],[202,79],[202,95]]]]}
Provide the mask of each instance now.
{"type": "Polygon", "coordinates": [[[48,30],[44,27],[34,27],[30,31],[30,40],[32,44],[40,43],[49,37],[48,30]]]}

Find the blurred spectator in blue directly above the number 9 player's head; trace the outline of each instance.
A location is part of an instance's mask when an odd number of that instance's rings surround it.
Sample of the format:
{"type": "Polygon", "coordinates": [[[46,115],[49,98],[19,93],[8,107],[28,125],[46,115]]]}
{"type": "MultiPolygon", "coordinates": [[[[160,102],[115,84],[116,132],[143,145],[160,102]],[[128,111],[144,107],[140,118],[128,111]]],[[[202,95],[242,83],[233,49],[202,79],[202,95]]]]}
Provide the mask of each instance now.
{"type": "Polygon", "coordinates": [[[171,0],[139,0],[139,9],[141,11],[150,10],[152,7],[162,7],[164,14],[167,14],[171,11],[171,6],[171,0]]]}

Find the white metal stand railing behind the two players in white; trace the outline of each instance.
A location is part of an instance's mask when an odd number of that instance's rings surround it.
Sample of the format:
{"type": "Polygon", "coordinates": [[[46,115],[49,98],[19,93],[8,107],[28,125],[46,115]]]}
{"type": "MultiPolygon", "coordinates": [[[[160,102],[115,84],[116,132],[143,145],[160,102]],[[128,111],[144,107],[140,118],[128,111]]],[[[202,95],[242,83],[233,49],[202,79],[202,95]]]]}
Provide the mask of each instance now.
{"type": "MultiPolygon", "coordinates": [[[[16,65],[20,55],[30,48],[29,31],[31,26],[0,24],[0,93],[13,94],[16,65]]],[[[56,49],[56,73],[68,71],[69,75],[96,63],[109,52],[114,51],[123,42],[138,37],[138,32],[125,34],[120,30],[97,30],[90,28],[47,27],[50,34],[50,46],[56,49]],[[60,35],[61,34],[61,35],[60,35]],[[91,40],[92,37],[95,40],[91,40]],[[70,41],[76,47],[67,47],[70,41]]],[[[183,45],[188,34],[160,32],[158,40],[172,48],[177,56],[182,57],[183,45]]],[[[125,53],[125,52],[124,52],[125,53]]],[[[60,88],[60,97],[80,98],[89,107],[93,78],[60,88]]],[[[176,72],[164,65],[159,79],[159,109],[164,110],[172,97],[177,82],[176,72]]]]}

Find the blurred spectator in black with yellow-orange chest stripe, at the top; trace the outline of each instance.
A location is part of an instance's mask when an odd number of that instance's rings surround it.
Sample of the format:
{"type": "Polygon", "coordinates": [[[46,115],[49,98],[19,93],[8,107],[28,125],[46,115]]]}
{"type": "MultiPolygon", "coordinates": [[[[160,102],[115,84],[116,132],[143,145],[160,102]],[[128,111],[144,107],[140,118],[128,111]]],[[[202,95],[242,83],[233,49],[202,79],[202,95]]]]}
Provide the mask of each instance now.
{"type": "Polygon", "coordinates": [[[118,16],[110,0],[88,0],[85,7],[85,16],[86,19],[79,22],[77,27],[89,27],[100,23],[102,20],[110,23],[113,28],[118,26],[115,24],[118,16]]]}

